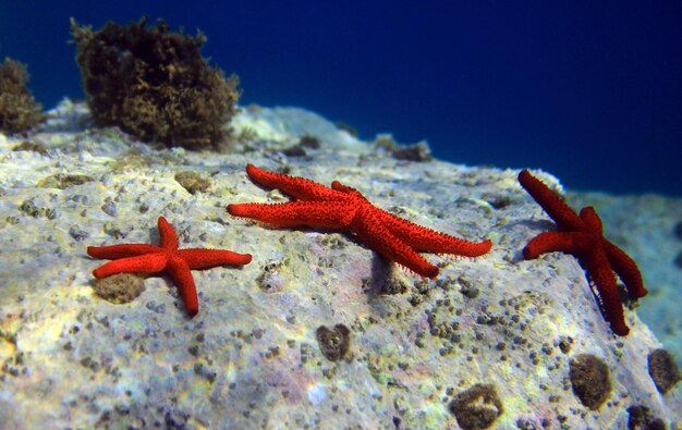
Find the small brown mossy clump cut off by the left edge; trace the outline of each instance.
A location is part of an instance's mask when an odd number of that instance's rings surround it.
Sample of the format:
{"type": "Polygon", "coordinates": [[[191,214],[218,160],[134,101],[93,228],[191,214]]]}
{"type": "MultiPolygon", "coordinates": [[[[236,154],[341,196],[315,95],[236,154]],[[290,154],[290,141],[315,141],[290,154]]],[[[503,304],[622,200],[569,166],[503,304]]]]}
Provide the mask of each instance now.
{"type": "Polygon", "coordinates": [[[33,98],[26,83],[26,66],[4,59],[0,64],[0,131],[24,132],[45,119],[42,106],[33,98]]]}

